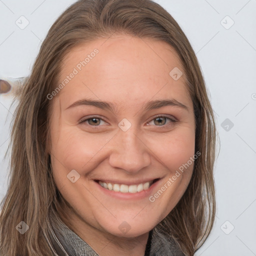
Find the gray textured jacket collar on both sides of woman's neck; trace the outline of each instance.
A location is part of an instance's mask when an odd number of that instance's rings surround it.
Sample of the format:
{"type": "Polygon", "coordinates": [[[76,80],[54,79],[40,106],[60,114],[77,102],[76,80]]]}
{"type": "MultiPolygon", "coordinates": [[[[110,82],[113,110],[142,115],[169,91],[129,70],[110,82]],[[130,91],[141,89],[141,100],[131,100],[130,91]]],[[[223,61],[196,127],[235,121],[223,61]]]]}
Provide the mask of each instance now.
{"type": "MultiPolygon", "coordinates": [[[[49,231],[54,256],[100,256],[60,219],[51,224],[49,231]]],[[[167,239],[153,228],[149,232],[145,256],[185,256],[173,239],[167,239]]],[[[119,256],[119,255],[118,255],[119,256]]]]}

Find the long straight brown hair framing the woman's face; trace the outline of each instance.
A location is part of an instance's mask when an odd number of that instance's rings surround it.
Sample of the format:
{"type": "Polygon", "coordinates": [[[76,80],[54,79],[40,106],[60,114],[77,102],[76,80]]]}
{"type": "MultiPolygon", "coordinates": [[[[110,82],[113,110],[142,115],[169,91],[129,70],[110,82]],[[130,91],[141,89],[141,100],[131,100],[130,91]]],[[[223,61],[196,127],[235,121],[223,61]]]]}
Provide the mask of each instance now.
{"type": "Polygon", "coordinates": [[[151,0],[78,0],[49,29],[18,99],[11,132],[10,180],[1,202],[1,255],[52,255],[48,216],[49,212],[59,216],[56,208],[61,194],[46,150],[51,113],[47,94],[57,86],[67,52],[80,43],[118,32],[167,42],[183,65],[196,120],[195,152],[201,154],[194,161],[183,196],[157,227],[172,236],[189,256],[207,238],[215,215],[216,129],[205,82],[189,41],[172,16],[151,0]],[[16,230],[20,221],[29,226],[24,234],[16,230]]]}

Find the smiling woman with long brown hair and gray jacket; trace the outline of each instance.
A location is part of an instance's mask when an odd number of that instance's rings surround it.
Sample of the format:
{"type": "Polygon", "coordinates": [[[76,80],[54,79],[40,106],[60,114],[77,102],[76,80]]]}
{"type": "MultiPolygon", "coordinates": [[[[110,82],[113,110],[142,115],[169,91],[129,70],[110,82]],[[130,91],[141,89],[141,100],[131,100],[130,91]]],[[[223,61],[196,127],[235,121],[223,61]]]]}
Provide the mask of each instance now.
{"type": "Polygon", "coordinates": [[[0,254],[193,255],[214,221],[215,132],[169,13],[150,0],[75,2],[19,97],[0,254]]]}

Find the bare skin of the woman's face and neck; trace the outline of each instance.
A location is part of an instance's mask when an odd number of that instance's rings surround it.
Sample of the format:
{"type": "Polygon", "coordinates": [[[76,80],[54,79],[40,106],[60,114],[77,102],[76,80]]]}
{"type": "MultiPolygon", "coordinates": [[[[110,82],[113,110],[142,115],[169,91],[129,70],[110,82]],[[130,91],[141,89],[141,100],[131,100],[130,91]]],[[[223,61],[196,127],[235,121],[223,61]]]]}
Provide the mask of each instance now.
{"type": "MultiPolygon", "coordinates": [[[[163,41],[124,34],[96,39],[73,48],[64,58],[59,82],[84,56],[99,52],[53,97],[50,116],[50,155],[57,188],[72,210],[63,214],[69,225],[99,255],[144,255],[148,232],[176,205],[191,178],[193,164],[154,202],[114,198],[95,179],[161,178],[153,195],[194,155],[195,123],[184,70],[171,46],[163,41]],[[174,67],[183,75],[174,80],[174,67]],[[91,105],[68,108],[83,98],[109,101],[116,111],[91,105]],[[175,99],[187,109],[163,106],[144,110],[149,100],[175,99]],[[174,118],[172,122],[155,115],[174,118]],[[96,124],[80,120],[96,115],[96,124]],[[126,118],[131,127],[118,123],[126,118]],[[93,129],[94,128],[94,129],[93,129]],[[72,183],[67,174],[80,177],[72,183]],[[120,230],[126,221],[130,229],[120,230]]],[[[94,117],[95,118],[95,117],[94,117]]],[[[125,224],[125,225],[127,225],[125,224]]]]}

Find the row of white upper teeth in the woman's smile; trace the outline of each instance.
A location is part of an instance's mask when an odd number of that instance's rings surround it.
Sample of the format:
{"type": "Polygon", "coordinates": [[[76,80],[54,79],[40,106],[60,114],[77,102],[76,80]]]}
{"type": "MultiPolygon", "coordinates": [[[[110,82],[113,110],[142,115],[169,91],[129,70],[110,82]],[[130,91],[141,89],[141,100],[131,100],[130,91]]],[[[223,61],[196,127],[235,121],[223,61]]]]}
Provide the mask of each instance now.
{"type": "Polygon", "coordinates": [[[145,183],[140,183],[138,185],[125,185],[125,184],[112,184],[106,183],[103,181],[98,181],[98,183],[109,190],[113,190],[115,192],[122,192],[122,193],[136,193],[142,190],[146,190],[153,181],[147,181],[145,183]]]}

